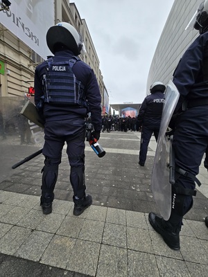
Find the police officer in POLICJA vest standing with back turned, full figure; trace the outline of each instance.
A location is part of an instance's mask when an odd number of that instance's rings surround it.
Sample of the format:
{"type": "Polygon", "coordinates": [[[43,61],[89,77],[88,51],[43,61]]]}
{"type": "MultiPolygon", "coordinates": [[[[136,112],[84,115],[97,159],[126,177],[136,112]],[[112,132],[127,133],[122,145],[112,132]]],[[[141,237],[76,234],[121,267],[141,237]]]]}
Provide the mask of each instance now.
{"type": "Polygon", "coordinates": [[[35,105],[45,120],[40,204],[44,214],[51,213],[66,142],[73,215],[80,215],[92,204],[92,197],[85,194],[85,118],[90,111],[92,136],[98,140],[102,127],[101,93],[94,71],[77,57],[83,49],[83,39],[71,24],[61,22],[49,28],[46,42],[54,56],[35,69],[35,105]]]}

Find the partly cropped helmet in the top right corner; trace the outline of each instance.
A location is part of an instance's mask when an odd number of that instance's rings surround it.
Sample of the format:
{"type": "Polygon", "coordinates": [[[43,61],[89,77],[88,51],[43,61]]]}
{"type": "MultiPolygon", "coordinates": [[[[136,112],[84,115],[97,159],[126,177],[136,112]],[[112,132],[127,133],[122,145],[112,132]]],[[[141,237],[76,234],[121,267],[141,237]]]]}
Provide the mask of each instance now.
{"type": "MultiPolygon", "coordinates": [[[[200,34],[205,33],[208,30],[208,1],[205,0],[200,3],[196,14],[196,20],[193,28],[199,30],[200,34]]],[[[193,16],[193,17],[194,17],[193,16]]]]}

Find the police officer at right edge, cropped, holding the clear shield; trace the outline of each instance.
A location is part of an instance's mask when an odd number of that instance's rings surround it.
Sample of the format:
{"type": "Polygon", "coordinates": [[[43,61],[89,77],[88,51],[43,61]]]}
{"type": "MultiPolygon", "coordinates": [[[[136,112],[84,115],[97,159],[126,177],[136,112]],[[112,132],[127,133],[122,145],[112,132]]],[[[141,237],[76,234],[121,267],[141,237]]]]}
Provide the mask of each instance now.
{"type": "Polygon", "coordinates": [[[180,231],[184,215],[196,195],[196,175],[208,144],[208,0],[203,1],[193,28],[200,35],[187,48],[175,72],[173,83],[180,92],[175,113],[175,185],[168,220],[149,214],[150,224],[174,250],[180,249],[180,231]]]}

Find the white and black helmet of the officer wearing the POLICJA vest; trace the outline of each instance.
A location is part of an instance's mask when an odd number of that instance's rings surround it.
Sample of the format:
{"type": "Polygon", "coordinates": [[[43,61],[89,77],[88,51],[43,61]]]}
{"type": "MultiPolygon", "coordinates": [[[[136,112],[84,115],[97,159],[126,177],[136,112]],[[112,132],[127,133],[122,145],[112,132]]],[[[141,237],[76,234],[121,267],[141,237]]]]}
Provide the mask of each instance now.
{"type": "Polygon", "coordinates": [[[80,55],[83,49],[83,38],[76,28],[67,22],[60,22],[49,28],[46,33],[46,42],[53,54],[60,45],[71,50],[74,55],[80,55]]]}

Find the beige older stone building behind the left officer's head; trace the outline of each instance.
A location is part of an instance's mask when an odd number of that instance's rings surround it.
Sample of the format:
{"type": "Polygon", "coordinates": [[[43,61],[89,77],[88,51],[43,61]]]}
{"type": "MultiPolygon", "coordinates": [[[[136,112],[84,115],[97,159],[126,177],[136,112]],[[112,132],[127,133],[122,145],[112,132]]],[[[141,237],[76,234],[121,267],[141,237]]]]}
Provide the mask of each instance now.
{"type": "MultiPolygon", "coordinates": [[[[98,55],[96,54],[96,49],[85,19],[81,19],[75,3],[69,3],[69,0],[54,0],[53,3],[53,24],[61,21],[68,22],[83,36],[87,53],[81,54],[80,59],[89,64],[94,70],[103,100],[105,84],[100,70],[98,55]]],[[[8,11],[3,10],[0,13],[2,12],[7,12],[8,17],[12,16],[11,12],[9,14],[8,11]]],[[[21,39],[8,30],[3,25],[3,20],[0,22],[0,97],[26,96],[29,89],[33,87],[35,66],[43,62],[46,57],[40,57],[26,43],[22,42],[21,39]]],[[[19,24],[23,26],[23,23],[20,21],[19,24]]]]}

